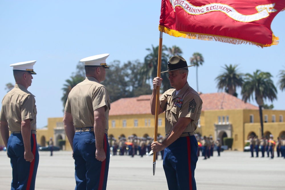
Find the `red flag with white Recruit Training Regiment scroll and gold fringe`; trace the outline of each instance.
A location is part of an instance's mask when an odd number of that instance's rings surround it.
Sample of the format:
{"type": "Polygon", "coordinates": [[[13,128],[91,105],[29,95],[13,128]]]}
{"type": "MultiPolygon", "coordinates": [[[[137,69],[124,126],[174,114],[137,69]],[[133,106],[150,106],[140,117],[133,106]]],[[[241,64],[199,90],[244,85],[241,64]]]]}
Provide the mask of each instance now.
{"type": "Polygon", "coordinates": [[[285,0],[162,0],[159,30],[175,37],[268,47],[278,44],[270,25],[284,9],[285,0]]]}

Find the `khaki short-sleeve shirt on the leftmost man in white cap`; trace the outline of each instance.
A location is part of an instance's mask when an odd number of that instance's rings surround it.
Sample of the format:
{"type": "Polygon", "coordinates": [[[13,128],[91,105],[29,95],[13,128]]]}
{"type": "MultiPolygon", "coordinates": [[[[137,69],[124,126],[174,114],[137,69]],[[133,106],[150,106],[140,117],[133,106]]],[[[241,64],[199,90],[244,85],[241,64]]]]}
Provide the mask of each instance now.
{"type": "Polygon", "coordinates": [[[0,120],[8,122],[11,132],[21,131],[22,120],[31,120],[31,129],[36,130],[35,98],[23,85],[15,84],[2,100],[0,120]]]}

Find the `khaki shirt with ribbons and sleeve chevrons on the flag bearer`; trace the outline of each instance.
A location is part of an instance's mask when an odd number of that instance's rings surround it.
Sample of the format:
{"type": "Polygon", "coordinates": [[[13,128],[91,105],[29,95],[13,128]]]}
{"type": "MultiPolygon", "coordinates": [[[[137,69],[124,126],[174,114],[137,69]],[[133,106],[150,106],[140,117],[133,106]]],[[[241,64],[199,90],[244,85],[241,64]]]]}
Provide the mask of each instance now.
{"type": "Polygon", "coordinates": [[[198,126],[203,101],[188,83],[175,94],[175,89],[169,89],[159,99],[160,107],[165,111],[165,133],[169,134],[180,117],[192,119],[184,132],[193,132],[198,126]]]}

